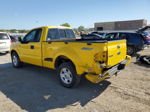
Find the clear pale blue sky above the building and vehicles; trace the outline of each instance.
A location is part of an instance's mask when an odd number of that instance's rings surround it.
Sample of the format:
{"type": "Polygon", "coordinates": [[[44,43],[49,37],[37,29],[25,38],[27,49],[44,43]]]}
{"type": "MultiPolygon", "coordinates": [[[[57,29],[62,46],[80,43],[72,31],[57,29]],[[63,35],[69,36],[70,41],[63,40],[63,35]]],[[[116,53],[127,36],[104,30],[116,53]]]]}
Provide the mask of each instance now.
{"type": "Polygon", "coordinates": [[[31,29],[68,22],[94,27],[95,22],[147,19],[150,0],[0,0],[0,29],[31,29]]]}

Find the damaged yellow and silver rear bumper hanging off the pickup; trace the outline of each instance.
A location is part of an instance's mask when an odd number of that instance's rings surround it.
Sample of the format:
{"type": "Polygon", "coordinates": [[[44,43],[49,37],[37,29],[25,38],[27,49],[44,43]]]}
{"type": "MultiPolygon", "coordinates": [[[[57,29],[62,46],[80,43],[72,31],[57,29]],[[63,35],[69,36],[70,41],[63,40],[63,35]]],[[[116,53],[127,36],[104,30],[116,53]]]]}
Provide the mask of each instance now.
{"type": "Polygon", "coordinates": [[[127,56],[125,60],[123,60],[119,64],[105,70],[102,74],[98,74],[98,75],[87,74],[87,75],[85,75],[85,77],[93,83],[98,83],[108,77],[117,75],[130,63],[130,61],[131,61],[131,57],[127,56]]]}

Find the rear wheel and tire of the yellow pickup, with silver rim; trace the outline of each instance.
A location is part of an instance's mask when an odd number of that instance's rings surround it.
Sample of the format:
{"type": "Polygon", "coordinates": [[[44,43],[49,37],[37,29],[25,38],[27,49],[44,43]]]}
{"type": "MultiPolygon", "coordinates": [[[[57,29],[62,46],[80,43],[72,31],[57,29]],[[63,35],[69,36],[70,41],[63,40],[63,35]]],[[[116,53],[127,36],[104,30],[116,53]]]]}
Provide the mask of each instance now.
{"type": "Polygon", "coordinates": [[[80,83],[80,76],[71,62],[62,63],[57,71],[60,83],[67,88],[76,87],[80,83]]]}

